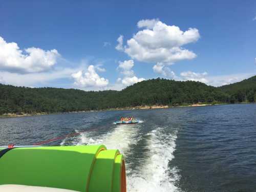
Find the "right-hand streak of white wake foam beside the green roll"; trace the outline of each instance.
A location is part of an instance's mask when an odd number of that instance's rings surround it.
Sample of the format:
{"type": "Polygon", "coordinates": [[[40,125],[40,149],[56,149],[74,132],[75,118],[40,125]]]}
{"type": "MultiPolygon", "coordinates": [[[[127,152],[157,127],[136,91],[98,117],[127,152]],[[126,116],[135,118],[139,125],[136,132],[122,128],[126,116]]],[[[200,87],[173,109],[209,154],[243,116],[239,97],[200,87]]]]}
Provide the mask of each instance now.
{"type": "Polygon", "coordinates": [[[164,134],[160,127],[147,134],[148,157],[140,168],[127,177],[127,191],[179,191],[177,169],[169,170],[168,163],[174,158],[176,133],[164,134]]]}

